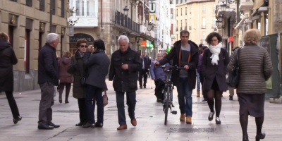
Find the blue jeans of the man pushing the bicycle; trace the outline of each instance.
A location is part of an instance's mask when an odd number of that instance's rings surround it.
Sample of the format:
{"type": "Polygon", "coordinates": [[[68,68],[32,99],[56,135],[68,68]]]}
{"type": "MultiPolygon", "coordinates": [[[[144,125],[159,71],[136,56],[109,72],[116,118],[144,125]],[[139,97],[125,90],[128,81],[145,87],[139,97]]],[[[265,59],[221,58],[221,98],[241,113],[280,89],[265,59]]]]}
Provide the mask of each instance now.
{"type": "Polygon", "coordinates": [[[180,113],[192,116],[192,90],[188,85],[188,78],[179,78],[177,92],[180,113]]]}

